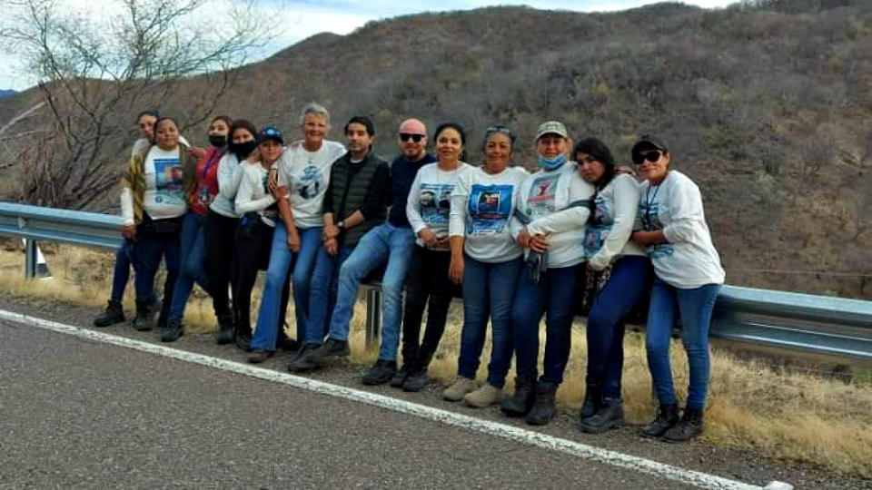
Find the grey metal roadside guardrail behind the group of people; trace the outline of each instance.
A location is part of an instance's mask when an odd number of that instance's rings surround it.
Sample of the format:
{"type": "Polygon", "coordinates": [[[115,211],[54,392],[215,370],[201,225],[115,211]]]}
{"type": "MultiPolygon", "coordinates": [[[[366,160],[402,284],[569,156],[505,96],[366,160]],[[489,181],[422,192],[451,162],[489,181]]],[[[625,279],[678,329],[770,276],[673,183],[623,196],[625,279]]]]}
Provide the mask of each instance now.
{"type": "MultiPolygon", "coordinates": [[[[0,235],[27,241],[25,262],[34,270],[36,240],[114,250],[121,246],[122,224],[120,217],[107,214],[0,202],[0,235]]],[[[381,290],[367,286],[367,343],[372,344],[381,327],[381,290]]],[[[872,361],[872,301],[724,286],[710,336],[872,361]]]]}

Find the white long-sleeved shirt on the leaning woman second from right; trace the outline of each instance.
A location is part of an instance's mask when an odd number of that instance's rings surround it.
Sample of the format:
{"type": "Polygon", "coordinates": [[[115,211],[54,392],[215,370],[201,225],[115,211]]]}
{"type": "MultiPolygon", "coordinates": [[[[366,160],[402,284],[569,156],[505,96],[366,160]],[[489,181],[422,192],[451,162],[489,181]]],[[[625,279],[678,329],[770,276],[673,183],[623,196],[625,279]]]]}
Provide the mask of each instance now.
{"type": "Polygon", "coordinates": [[[605,269],[624,255],[645,255],[629,240],[639,211],[639,182],[627,174],[616,175],[597,194],[596,211],[584,233],[584,250],[594,270],[605,269]]]}

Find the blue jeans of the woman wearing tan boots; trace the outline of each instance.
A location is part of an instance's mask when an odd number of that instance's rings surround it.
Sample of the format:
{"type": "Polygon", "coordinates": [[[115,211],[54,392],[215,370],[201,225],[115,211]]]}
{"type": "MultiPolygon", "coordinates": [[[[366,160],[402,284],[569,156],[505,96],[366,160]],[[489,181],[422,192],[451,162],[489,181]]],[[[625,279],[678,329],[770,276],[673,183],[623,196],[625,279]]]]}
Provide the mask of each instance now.
{"type": "Polygon", "coordinates": [[[457,373],[475,379],[490,318],[492,328],[488,383],[501,388],[511,364],[511,301],[520,273],[520,258],[490,264],[464,257],[463,330],[457,373]]]}

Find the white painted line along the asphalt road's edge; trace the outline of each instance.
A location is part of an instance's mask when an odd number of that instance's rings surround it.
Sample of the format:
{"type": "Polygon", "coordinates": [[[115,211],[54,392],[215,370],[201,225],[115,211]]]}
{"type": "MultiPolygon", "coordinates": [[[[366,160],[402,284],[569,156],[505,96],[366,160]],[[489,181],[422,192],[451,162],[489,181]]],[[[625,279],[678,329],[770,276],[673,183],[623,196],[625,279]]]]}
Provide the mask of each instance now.
{"type": "MultiPolygon", "coordinates": [[[[712,488],[718,490],[759,490],[765,488],[758,485],[748,485],[735,480],[729,480],[728,478],[722,478],[716,475],[708,475],[699,471],[679,468],[678,466],[665,465],[663,463],[658,463],[656,461],[651,461],[642,457],[629,456],[616,451],[609,451],[607,449],[601,449],[595,446],[588,446],[575,441],[570,441],[568,439],[548,436],[546,434],[541,434],[539,432],[534,432],[515,426],[507,426],[505,424],[500,424],[497,422],[491,422],[488,420],[482,420],[480,418],[457,414],[448,410],[441,410],[439,408],[418,405],[416,403],[411,403],[405,400],[385,397],[359,389],[332,385],[330,383],[324,383],[322,381],[309,379],[307,377],[293,376],[270,369],[255,368],[251,365],[242,364],[231,360],[203,356],[201,354],[195,354],[193,352],[179,350],[176,348],[167,348],[158,344],[134,340],[132,338],[118,337],[105,334],[103,332],[89,330],[87,328],[74,327],[72,325],[66,325],[64,323],[58,323],[50,320],[38,319],[12,311],[5,311],[0,309],[0,319],[9,320],[15,323],[20,323],[36,328],[44,328],[46,330],[52,330],[54,332],[72,335],[77,338],[85,338],[88,340],[104,342],[124,348],[132,348],[134,350],[140,350],[143,352],[148,352],[150,354],[156,354],[165,358],[178,359],[185,362],[208,366],[215,369],[221,369],[223,371],[230,371],[245,376],[258,377],[275,383],[282,383],[290,387],[307,389],[310,391],[321,393],[323,395],[329,395],[331,397],[341,397],[348,400],[362,402],[375,407],[392,410],[394,412],[400,412],[415,417],[426,418],[428,420],[440,422],[442,424],[458,426],[461,428],[466,428],[488,434],[490,436],[498,436],[504,439],[517,441],[530,446],[539,446],[545,449],[549,449],[551,451],[556,451],[571,456],[578,456],[580,458],[590,461],[596,461],[611,466],[618,466],[621,468],[626,468],[649,475],[657,475],[683,484],[699,486],[700,488],[712,488]]],[[[790,485],[786,487],[773,485],[787,484],[783,484],[781,482],[772,482],[767,485],[767,487],[792,488],[792,486],[790,485]]]]}

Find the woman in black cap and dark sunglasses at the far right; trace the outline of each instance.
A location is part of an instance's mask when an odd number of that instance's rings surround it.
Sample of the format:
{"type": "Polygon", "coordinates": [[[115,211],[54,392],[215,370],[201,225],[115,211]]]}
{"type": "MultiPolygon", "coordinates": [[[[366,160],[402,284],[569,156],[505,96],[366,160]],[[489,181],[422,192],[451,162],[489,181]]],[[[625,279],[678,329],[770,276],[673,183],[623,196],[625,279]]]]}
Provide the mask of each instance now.
{"type": "Polygon", "coordinates": [[[699,188],[683,173],[670,170],[672,152],[666,143],[644,134],[631,154],[646,180],[639,188],[641,227],[630,237],[645,247],[655,273],[645,348],[659,408],[643,434],[685,441],[702,434],[708,327],[724,270],[708,232],[699,188]],[[690,371],[687,405],[680,419],[669,366],[669,338],[678,319],[690,371]]]}

